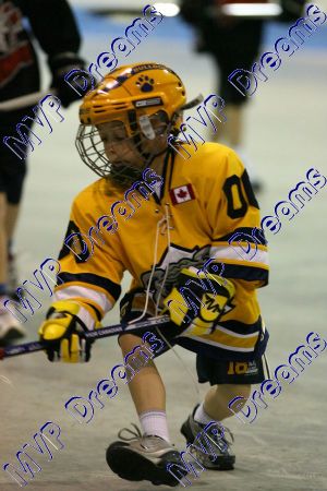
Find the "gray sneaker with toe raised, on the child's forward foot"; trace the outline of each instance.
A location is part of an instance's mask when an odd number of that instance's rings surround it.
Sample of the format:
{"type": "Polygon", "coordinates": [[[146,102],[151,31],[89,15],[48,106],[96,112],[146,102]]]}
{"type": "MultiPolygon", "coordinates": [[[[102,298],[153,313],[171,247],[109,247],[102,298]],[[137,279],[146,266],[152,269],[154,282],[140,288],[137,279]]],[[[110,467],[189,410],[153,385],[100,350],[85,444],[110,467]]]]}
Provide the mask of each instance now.
{"type": "Polygon", "coordinates": [[[166,467],[169,463],[181,463],[179,452],[160,436],[142,435],[138,427],[132,424],[135,431],[123,428],[118,433],[121,441],[111,443],[107,448],[106,459],[110,469],[129,481],[147,480],[156,486],[178,486],[179,481],[167,472],[166,467]],[[132,438],[123,436],[123,431],[132,438]]]}

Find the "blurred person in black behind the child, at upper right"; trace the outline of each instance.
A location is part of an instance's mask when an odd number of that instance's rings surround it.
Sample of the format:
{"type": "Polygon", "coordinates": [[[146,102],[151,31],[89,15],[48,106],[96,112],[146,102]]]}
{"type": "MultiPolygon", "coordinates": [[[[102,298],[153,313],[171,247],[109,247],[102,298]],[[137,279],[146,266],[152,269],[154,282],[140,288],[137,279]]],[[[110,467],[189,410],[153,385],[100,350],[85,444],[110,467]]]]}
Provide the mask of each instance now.
{"type": "MultiPolygon", "coordinates": [[[[244,0],[243,0],[244,1],[244,0]]],[[[243,3],[242,0],[238,3],[243,3]]],[[[249,0],[245,3],[252,3],[249,0]]],[[[226,140],[228,146],[239,153],[246,165],[252,185],[256,191],[261,182],[243,151],[243,109],[247,97],[242,96],[228,81],[228,75],[238,68],[251,70],[259,53],[263,38],[264,17],[235,17],[221,14],[221,5],[233,3],[230,0],[182,0],[181,15],[193,25],[197,34],[196,50],[209,52],[220,74],[219,94],[226,101],[227,121],[220,125],[219,140],[226,140]]],[[[254,0],[255,3],[255,0],[254,0]]],[[[304,0],[281,0],[281,14],[277,21],[291,22],[301,16],[304,0]]]]}

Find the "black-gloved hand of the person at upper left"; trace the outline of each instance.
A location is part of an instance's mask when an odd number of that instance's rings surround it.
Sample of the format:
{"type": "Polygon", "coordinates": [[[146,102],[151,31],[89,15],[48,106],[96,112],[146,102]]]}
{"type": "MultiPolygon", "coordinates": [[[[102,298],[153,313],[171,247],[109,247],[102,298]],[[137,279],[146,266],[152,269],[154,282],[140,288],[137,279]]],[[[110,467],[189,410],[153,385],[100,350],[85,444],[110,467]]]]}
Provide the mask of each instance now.
{"type": "Polygon", "coordinates": [[[64,75],[71,70],[84,70],[85,62],[82,58],[73,52],[58,53],[49,59],[49,67],[52,72],[52,82],[50,87],[57,88],[58,97],[63,107],[69,107],[74,100],[81,97],[69,86],[64,80],[64,75]]]}

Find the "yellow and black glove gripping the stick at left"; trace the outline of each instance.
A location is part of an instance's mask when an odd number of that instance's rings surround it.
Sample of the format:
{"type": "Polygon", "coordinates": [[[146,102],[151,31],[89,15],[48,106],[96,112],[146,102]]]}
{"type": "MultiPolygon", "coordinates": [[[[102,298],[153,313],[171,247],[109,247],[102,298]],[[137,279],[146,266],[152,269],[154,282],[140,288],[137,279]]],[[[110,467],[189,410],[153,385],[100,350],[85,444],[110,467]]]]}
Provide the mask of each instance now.
{"type": "Polygon", "coordinates": [[[38,330],[40,340],[47,345],[50,361],[62,359],[76,363],[89,360],[93,342],[83,338],[83,333],[88,330],[78,319],[80,310],[81,306],[68,300],[52,303],[47,321],[38,330]]]}

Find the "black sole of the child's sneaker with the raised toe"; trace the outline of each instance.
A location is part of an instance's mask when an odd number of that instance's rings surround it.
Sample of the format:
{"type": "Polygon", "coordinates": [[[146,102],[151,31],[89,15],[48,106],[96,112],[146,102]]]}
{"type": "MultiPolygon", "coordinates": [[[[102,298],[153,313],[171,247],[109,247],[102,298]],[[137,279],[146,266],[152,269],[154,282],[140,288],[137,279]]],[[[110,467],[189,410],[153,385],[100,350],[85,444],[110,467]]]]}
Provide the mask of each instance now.
{"type": "MultiPolygon", "coordinates": [[[[178,452],[171,452],[172,462],[178,452]]],[[[166,454],[166,456],[169,453],[166,454]]],[[[116,446],[112,443],[106,452],[107,464],[110,469],[120,478],[128,481],[150,481],[155,486],[167,484],[170,487],[179,486],[179,482],[164,468],[125,446],[116,446]],[[126,463],[129,465],[126,466],[126,463]]]]}

